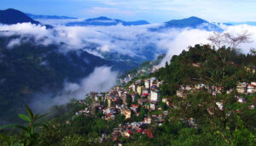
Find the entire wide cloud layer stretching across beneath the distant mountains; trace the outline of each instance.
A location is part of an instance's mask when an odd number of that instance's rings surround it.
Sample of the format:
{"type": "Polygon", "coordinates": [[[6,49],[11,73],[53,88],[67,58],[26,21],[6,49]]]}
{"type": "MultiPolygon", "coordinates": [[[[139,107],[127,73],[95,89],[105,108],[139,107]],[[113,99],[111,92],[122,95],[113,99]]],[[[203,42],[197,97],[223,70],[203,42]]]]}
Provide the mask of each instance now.
{"type": "MultiPolygon", "coordinates": [[[[61,44],[61,51],[84,49],[102,57],[102,53],[118,53],[130,57],[147,59],[145,50],[157,54],[167,53],[166,60],[170,60],[173,54],[179,54],[183,49],[196,43],[209,43],[207,37],[212,31],[201,29],[165,29],[150,31],[163,24],[151,25],[112,25],[112,26],[65,26],[55,25],[53,29],[47,29],[43,25],[22,23],[17,25],[0,25],[0,35],[20,35],[10,41],[8,48],[13,48],[24,42],[26,36],[34,36],[35,42],[40,45],[52,43],[61,44]],[[63,45],[64,44],[64,45],[63,45]]],[[[253,34],[252,40],[256,40],[256,26],[250,25],[220,25],[224,32],[231,34],[249,31],[253,34]]],[[[26,40],[26,39],[25,39],[26,40]]],[[[242,53],[247,53],[255,46],[255,42],[239,46],[242,53]]]]}

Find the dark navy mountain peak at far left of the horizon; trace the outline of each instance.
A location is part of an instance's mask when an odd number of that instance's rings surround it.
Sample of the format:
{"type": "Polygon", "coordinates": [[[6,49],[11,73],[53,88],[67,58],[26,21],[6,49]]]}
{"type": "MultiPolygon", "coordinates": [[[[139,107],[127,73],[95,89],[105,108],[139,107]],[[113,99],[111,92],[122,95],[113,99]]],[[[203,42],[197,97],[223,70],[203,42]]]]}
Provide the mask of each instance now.
{"type": "Polygon", "coordinates": [[[8,8],[5,10],[0,10],[0,23],[6,25],[14,25],[17,23],[30,22],[32,24],[40,24],[36,20],[32,20],[26,14],[20,12],[19,10],[8,8]]]}

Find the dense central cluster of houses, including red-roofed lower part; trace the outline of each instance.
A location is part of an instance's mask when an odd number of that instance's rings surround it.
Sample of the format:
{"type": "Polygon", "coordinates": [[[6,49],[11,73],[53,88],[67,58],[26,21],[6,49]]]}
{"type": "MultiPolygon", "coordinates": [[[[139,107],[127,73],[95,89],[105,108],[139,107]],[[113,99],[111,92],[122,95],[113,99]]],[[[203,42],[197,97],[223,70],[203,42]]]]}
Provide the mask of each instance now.
{"type": "MultiPolygon", "coordinates": [[[[106,121],[115,120],[117,115],[124,115],[125,119],[131,119],[131,116],[140,115],[140,109],[145,108],[149,111],[159,110],[160,114],[143,115],[143,121],[133,121],[119,125],[114,128],[112,133],[113,140],[121,137],[133,138],[133,134],[145,134],[148,138],[153,138],[151,129],[148,125],[154,122],[155,126],[161,126],[164,117],[168,114],[168,110],[162,110],[157,106],[160,101],[171,106],[172,103],[168,98],[160,100],[160,85],[162,81],[158,81],[155,77],[145,80],[137,80],[131,83],[131,86],[114,87],[108,93],[90,93],[92,104],[86,104],[84,100],[79,100],[80,104],[88,105],[88,108],[79,110],[76,115],[93,115],[96,111],[101,111],[102,118],[106,121]],[[135,104],[136,103],[136,104],[135,104]],[[157,108],[158,107],[158,108],[157,108]]],[[[104,137],[105,138],[105,137],[104,137]]],[[[104,139],[102,137],[102,139],[104,139]]]]}

